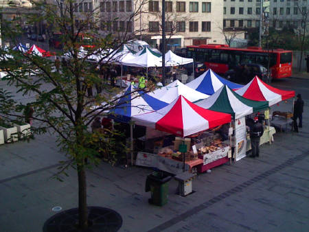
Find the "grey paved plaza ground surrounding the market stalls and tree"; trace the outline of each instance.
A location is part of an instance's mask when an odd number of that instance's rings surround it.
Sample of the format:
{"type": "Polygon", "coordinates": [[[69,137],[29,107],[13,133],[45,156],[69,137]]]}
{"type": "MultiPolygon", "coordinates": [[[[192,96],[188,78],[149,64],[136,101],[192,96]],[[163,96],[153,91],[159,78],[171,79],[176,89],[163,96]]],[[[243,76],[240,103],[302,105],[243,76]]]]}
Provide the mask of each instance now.
{"type": "MultiPolygon", "coordinates": [[[[304,127],[299,133],[277,132],[273,144],[261,147],[259,158],[245,157],[198,174],[195,192],[187,197],[177,195],[177,183],[170,181],[168,204],[163,207],[149,205],[150,193],[144,191],[152,170],[101,163],[87,172],[89,205],[120,213],[120,231],[308,231],[309,81],[290,78],[274,85],[282,89],[295,85],[303,94],[304,127]]],[[[289,100],[273,111],[291,108],[289,100]]],[[[52,178],[58,162],[65,160],[54,135],[0,146],[0,231],[42,231],[56,213],[53,207],[77,207],[76,171],[69,169],[64,182],[52,178]]]]}

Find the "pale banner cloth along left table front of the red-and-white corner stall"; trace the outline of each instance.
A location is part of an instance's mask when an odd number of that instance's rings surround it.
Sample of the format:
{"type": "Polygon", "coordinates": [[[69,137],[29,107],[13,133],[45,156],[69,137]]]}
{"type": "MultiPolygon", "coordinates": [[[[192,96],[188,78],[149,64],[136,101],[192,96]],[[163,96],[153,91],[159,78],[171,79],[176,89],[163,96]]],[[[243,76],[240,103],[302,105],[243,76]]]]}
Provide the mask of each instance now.
{"type": "MultiPolygon", "coordinates": [[[[159,170],[169,172],[172,174],[183,173],[183,163],[181,161],[175,161],[158,154],[152,154],[147,152],[138,152],[135,165],[145,167],[156,167],[159,170]]],[[[190,166],[185,164],[185,171],[189,171],[190,166]]]]}

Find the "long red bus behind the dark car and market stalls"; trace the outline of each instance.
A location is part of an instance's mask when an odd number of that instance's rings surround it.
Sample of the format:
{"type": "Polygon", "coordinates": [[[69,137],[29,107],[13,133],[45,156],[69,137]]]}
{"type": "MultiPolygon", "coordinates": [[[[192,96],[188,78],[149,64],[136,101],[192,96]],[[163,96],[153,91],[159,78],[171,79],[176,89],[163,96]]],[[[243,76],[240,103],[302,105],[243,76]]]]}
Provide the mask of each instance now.
{"type": "Polygon", "coordinates": [[[187,46],[186,55],[195,62],[203,62],[207,68],[224,74],[227,70],[241,64],[259,64],[269,67],[273,79],[292,75],[292,51],[284,49],[264,50],[261,47],[234,48],[229,45],[187,46]]]}

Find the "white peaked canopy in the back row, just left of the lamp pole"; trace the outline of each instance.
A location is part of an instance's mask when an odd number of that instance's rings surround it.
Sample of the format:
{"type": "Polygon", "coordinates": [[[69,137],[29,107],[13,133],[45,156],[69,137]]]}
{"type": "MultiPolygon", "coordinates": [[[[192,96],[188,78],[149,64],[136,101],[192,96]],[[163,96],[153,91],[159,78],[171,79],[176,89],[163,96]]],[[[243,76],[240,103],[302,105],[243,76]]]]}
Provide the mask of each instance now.
{"type": "Polygon", "coordinates": [[[122,65],[133,67],[161,67],[162,58],[148,47],[145,47],[140,53],[130,60],[122,61],[122,65]]]}

